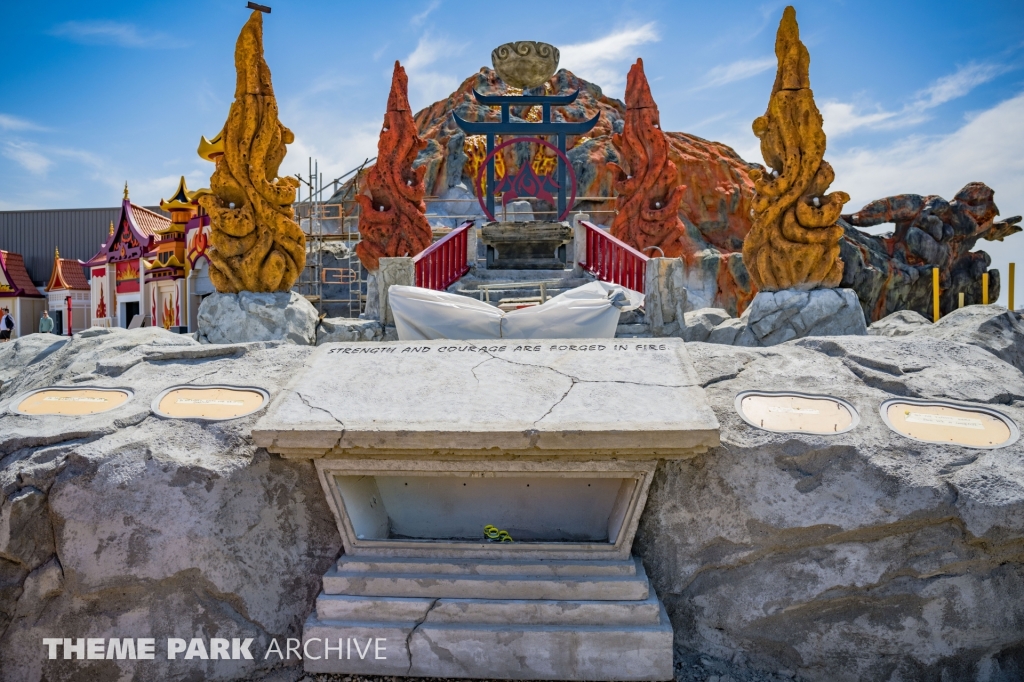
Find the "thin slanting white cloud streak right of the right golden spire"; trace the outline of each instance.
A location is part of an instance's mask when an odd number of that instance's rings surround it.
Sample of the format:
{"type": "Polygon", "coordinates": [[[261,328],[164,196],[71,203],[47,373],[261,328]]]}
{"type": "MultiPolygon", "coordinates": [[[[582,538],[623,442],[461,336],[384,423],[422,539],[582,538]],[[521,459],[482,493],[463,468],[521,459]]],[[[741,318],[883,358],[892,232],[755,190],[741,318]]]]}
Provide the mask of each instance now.
{"type": "Polygon", "coordinates": [[[919,90],[913,101],[895,112],[886,111],[878,104],[861,109],[850,102],[827,99],[821,104],[825,134],[838,137],[860,128],[892,130],[916,125],[928,120],[929,110],[963,97],[1008,70],[1001,65],[969,63],[919,90]]]}

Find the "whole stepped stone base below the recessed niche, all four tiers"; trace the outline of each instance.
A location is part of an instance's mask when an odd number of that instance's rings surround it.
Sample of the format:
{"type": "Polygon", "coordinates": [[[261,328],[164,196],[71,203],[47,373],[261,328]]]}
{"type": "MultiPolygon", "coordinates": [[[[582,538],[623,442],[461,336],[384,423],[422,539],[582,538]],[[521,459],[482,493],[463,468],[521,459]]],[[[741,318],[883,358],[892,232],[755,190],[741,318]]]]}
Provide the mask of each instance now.
{"type": "Polygon", "coordinates": [[[412,677],[671,680],[672,642],[635,558],[346,556],[303,629],[308,673],[412,677]]]}

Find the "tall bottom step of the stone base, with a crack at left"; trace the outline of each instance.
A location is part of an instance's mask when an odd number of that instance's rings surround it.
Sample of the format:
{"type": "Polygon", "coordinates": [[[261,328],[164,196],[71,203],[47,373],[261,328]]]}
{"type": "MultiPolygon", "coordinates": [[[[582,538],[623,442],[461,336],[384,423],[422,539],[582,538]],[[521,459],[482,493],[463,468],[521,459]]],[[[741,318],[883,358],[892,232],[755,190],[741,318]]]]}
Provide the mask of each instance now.
{"type": "Polygon", "coordinates": [[[505,680],[673,679],[672,625],[664,607],[659,607],[657,624],[646,626],[399,624],[322,621],[312,614],[302,637],[307,673],[505,680]],[[328,657],[324,656],[325,640],[331,647],[328,657]]]}

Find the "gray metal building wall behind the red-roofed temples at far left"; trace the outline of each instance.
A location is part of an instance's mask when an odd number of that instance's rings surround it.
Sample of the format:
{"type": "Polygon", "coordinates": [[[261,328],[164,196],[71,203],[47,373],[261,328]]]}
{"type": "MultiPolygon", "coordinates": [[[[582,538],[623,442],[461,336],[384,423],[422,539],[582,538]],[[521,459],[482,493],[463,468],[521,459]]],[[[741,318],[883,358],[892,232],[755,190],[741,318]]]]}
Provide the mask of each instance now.
{"type": "MultiPolygon", "coordinates": [[[[164,213],[156,207],[147,207],[164,213]]],[[[121,207],[59,209],[52,211],[0,211],[0,249],[19,253],[36,286],[50,279],[53,249],[62,258],[88,260],[96,255],[117,222],[121,207]]],[[[166,213],[165,213],[166,215],[166,213]]]]}

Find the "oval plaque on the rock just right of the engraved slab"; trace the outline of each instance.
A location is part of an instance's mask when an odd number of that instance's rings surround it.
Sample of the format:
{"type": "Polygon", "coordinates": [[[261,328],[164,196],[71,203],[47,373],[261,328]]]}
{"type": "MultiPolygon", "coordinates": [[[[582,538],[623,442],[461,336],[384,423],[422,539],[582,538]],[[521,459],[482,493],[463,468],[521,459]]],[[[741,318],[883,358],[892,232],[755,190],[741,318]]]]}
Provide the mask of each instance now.
{"type": "Polygon", "coordinates": [[[830,395],[743,391],[736,412],[751,426],[775,433],[845,433],[860,423],[856,408],[830,395]]]}

